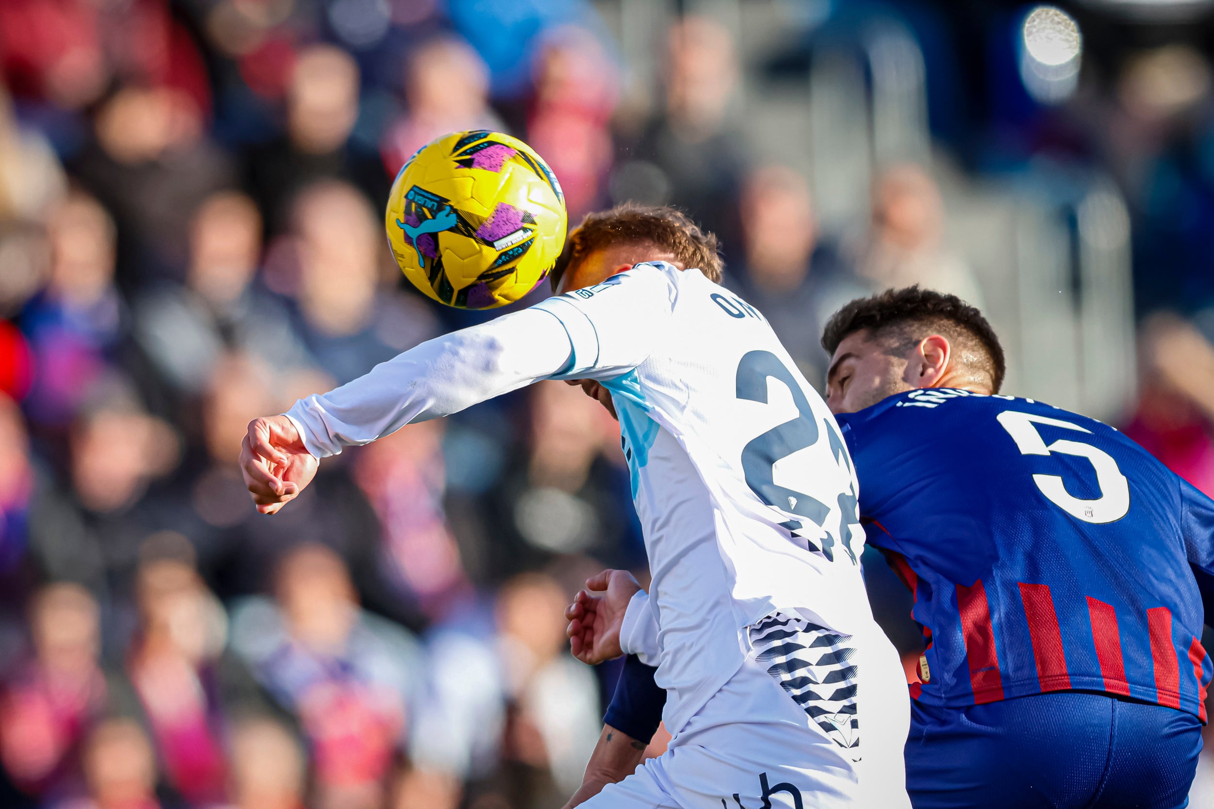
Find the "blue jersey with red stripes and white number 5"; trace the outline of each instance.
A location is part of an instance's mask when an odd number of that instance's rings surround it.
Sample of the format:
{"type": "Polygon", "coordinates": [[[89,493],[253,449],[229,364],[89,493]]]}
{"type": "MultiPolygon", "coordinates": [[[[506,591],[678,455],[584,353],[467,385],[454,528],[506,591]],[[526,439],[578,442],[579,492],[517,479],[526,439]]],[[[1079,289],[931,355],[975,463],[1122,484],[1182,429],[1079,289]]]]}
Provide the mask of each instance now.
{"type": "Polygon", "coordinates": [[[1214,501],[1112,427],[1032,399],[912,391],[838,421],[868,542],[914,592],[917,699],[1088,690],[1206,720],[1214,501]]]}

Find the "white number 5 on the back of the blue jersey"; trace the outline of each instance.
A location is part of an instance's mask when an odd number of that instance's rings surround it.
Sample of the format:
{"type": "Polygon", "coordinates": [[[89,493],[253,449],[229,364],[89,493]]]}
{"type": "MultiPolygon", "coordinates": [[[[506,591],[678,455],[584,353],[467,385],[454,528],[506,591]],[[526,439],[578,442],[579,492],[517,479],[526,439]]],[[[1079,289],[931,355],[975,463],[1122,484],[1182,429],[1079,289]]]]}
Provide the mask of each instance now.
{"type": "Polygon", "coordinates": [[[1100,497],[1095,500],[1082,500],[1072,496],[1062,483],[1062,478],[1056,474],[1034,474],[1033,483],[1042,490],[1050,502],[1065,511],[1067,514],[1082,519],[1085,523],[1114,523],[1125,517],[1130,511],[1130,484],[1117,467],[1117,461],[1108,452],[1084,444],[1059,439],[1053,444],[1045,444],[1045,439],[1037,432],[1034,425],[1046,425],[1049,427],[1061,427],[1080,433],[1091,434],[1090,429],[1072,425],[1068,421],[1049,418],[1048,416],[1034,416],[1019,410],[1004,410],[995,416],[999,425],[1008,431],[1011,439],[1016,441],[1021,455],[1074,455],[1085,457],[1096,471],[1096,484],[1100,486],[1100,497]]]}

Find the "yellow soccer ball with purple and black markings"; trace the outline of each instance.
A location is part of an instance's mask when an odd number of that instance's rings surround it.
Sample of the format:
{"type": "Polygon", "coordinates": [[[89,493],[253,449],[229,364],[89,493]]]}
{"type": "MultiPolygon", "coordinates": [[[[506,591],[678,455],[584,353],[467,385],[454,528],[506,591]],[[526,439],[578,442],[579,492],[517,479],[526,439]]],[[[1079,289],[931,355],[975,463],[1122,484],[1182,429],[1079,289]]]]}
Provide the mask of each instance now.
{"type": "Polygon", "coordinates": [[[387,238],[414,286],[492,309],[539,286],[565,246],[565,194],[518,138],[477,130],[421,147],[387,201],[387,238]]]}

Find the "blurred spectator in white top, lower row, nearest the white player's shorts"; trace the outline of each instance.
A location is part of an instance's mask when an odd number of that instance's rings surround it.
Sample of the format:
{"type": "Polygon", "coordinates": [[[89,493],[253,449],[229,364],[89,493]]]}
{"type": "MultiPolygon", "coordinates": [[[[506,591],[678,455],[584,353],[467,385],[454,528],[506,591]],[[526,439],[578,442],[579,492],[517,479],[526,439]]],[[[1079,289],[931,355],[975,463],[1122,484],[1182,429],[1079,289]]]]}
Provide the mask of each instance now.
{"type": "Polygon", "coordinates": [[[523,574],[498,596],[500,654],[514,705],[506,758],[551,776],[546,787],[543,780],[522,779],[531,787],[523,805],[572,794],[602,728],[594,672],[565,654],[567,600],[541,574],[523,574]],[[543,794],[554,788],[555,794],[543,794]]]}

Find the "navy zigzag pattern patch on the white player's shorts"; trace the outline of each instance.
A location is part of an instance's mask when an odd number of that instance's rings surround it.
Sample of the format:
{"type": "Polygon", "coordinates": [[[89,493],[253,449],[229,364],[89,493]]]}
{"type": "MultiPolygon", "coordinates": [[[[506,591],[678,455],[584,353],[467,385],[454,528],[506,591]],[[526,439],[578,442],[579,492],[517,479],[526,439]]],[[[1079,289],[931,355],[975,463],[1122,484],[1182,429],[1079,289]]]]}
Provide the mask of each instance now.
{"type": "Polygon", "coordinates": [[[853,760],[860,760],[857,651],[849,634],[787,613],[749,627],[756,660],[853,760]]]}

